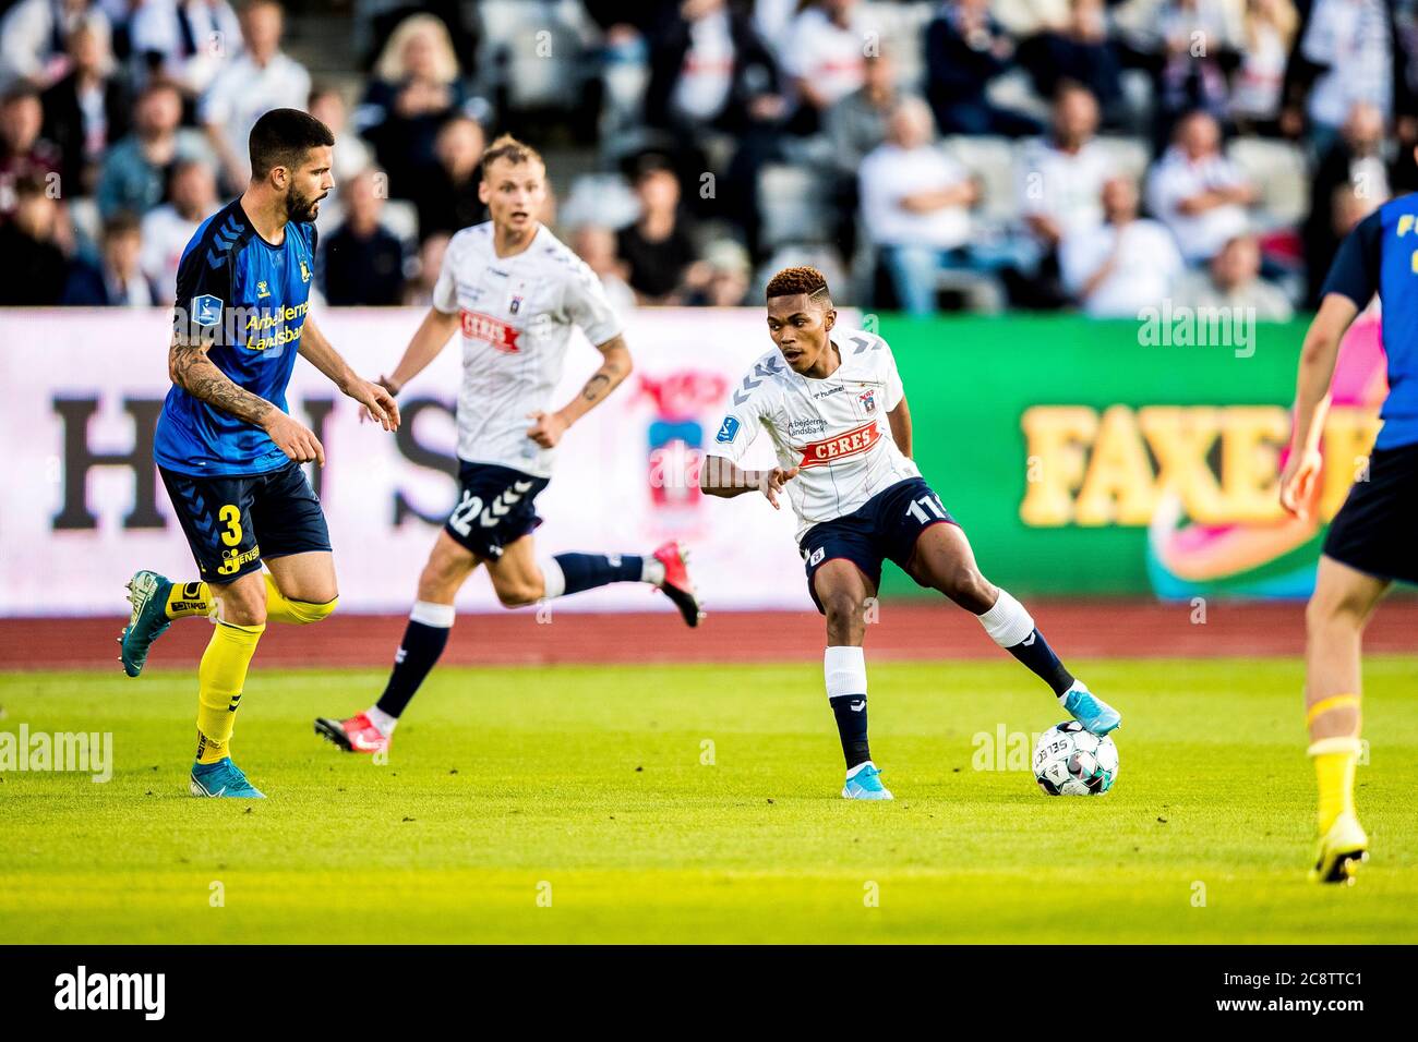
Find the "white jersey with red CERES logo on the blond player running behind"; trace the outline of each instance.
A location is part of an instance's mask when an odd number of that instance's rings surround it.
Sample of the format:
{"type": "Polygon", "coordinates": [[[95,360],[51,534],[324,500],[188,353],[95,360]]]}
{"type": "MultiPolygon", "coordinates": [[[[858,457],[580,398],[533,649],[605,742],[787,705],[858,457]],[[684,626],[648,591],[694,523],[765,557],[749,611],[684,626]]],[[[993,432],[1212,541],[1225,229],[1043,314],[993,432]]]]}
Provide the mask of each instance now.
{"type": "Polygon", "coordinates": [[[458,456],[550,478],[554,449],[527,437],[527,413],[563,404],[552,391],[573,325],[593,344],[621,332],[601,281],[542,225],[520,254],[498,257],[486,221],[448,241],[432,303],[461,316],[458,456]]]}

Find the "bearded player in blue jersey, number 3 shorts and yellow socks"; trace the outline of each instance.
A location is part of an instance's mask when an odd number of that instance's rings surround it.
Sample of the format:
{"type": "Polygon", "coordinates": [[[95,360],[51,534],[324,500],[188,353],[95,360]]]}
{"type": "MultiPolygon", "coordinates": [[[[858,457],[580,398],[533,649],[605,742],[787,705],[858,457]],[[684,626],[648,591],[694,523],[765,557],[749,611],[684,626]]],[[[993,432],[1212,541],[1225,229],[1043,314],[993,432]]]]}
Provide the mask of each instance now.
{"type": "Polygon", "coordinates": [[[315,220],[335,180],[335,138],[296,109],[272,109],[251,130],[251,184],[208,217],[177,268],[169,373],[153,455],[200,580],[139,571],[123,635],[123,669],[138,676],[152,642],[176,618],[216,615],[197,668],[193,795],[259,798],[228,744],[247,668],[267,621],[318,622],[339,600],[329,532],[301,464],[325,448],[286,411],[303,356],[398,427],[389,393],[350,370],[308,315],[315,220]],[[269,571],[262,571],[265,564],[269,571]]]}

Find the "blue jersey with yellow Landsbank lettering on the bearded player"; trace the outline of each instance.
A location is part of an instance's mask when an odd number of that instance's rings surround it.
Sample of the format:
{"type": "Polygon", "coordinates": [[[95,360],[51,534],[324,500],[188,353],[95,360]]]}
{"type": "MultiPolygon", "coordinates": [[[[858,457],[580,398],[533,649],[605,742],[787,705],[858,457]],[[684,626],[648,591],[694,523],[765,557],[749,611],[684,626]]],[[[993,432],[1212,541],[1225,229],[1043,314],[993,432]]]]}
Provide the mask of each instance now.
{"type": "MultiPolygon", "coordinates": [[[[210,343],[207,357],[228,380],[289,411],[285,388],[301,346],[315,272],[315,225],[285,225],[271,245],[257,234],[241,200],[197,228],[177,267],[176,320],[189,342],[210,343]]],[[[153,456],[191,476],[265,474],[289,458],[254,424],[173,386],[157,421],[153,456]]]]}

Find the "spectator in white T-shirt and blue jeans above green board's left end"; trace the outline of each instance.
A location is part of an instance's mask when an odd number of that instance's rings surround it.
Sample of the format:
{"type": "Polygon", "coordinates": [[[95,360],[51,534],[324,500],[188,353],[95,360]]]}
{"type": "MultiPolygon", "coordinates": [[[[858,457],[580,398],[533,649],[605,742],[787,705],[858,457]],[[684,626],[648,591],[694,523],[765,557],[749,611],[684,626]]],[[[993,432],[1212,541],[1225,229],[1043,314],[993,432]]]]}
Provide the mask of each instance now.
{"type": "Polygon", "coordinates": [[[942,269],[973,267],[970,207],[980,198],[970,173],[933,146],[930,121],[923,101],[903,98],[861,170],[866,234],[912,315],[936,310],[942,269]]]}

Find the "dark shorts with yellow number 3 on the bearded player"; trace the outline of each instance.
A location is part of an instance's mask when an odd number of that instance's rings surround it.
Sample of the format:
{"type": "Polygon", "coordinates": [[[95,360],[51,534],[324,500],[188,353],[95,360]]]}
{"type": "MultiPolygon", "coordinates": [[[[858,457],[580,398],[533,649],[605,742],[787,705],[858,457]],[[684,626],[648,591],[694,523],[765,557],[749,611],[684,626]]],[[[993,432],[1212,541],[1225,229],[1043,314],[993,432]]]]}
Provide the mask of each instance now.
{"type": "Polygon", "coordinates": [[[301,465],[235,478],[193,478],[159,466],[201,577],[231,583],[261,561],[330,549],[320,499],[301,465]]]}

